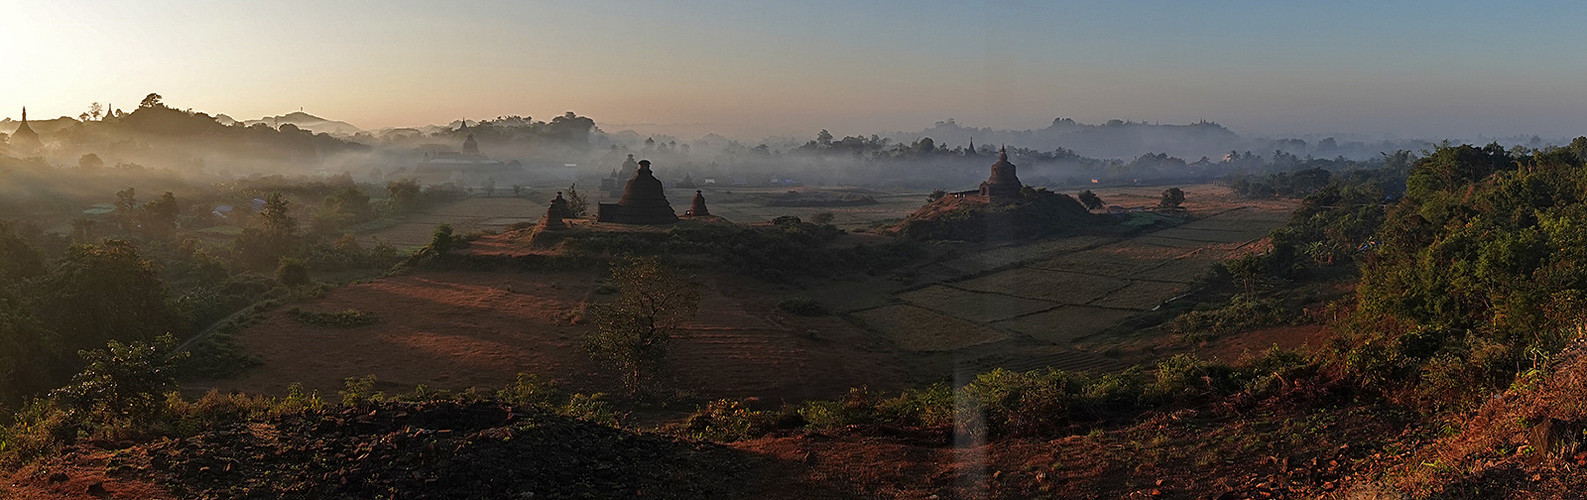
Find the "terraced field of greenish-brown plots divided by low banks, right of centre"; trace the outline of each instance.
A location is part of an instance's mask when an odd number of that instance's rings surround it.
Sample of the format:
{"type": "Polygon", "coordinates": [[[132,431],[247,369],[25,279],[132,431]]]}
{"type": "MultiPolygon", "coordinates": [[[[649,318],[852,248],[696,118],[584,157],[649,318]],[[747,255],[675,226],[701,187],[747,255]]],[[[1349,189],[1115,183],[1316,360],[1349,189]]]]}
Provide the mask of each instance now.
{"type": "Polygon", "coordinates": [[[1287,217],[1239,206],[1133,238],[974,252],[928,268],[936,283],[893,295],[893,305],[849,314],[900,349],[978,357],[981,368],[1117,368],[1076,343],[1105,341],[1095,335],[1189,292],[1212,265],[1254,251],[1287,217]]]}

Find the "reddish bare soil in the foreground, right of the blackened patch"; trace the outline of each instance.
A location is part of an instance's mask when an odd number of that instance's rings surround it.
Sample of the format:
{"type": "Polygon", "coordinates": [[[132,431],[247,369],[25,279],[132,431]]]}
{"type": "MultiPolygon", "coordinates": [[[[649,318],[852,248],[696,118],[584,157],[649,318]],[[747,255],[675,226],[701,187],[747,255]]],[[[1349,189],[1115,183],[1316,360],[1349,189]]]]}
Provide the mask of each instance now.
{"type": "Polygon", "coordinates": [[[733,448],[881,498],[1319,498],[1365,483],[1357,475],[1403,429],[1373,406],[1268,400],[1149,413],[1052,440],[955,446],[855,427],[733,448]]]}

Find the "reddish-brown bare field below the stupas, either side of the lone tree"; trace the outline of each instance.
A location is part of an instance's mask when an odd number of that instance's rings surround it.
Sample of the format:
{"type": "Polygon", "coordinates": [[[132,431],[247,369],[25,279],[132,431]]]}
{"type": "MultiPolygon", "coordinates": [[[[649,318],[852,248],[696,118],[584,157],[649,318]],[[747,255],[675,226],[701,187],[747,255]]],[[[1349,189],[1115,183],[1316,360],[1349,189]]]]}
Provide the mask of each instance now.
{"type": "MultiPolygon", "coordinates": [[[[776,311],[776,290],[740,278],[703,276],[697,319],[670,346],[667,381],[700,397],[798,402],[852,386],[897,389],[901,362],[860,329],[835,317],[776,311]]],[[[333,289],[319,300],[265,314],[238,340],[263,365],[235,379],[197,381],[249,394],[282,394],[290,383],[333,395],[344,379],[375,375],[381,390],[500,387],[517,373],[574,390],[616,392],[584,351],[589,324],[573,324],[594,295],[594,273],[424,271],[333,289]],[[360,310],[379,322],[355,329],[308,325],[287,316],[360,310]]]]}

